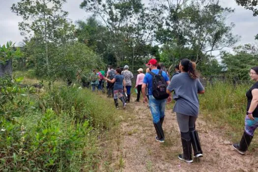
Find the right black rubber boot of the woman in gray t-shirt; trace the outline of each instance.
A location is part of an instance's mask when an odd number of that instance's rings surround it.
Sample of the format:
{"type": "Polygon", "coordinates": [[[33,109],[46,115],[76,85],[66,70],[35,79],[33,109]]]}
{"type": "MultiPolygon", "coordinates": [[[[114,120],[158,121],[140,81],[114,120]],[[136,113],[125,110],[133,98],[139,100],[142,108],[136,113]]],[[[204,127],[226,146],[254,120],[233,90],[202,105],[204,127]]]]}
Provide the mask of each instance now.
{"type": "Polygon", "coordinates": [[[201,143],[199,140],[198,132],[195,130],[195,128],[190,128],[189,130],[191,143],[194,149],[194,156],[196,158],[202,157],[201,143]]]}

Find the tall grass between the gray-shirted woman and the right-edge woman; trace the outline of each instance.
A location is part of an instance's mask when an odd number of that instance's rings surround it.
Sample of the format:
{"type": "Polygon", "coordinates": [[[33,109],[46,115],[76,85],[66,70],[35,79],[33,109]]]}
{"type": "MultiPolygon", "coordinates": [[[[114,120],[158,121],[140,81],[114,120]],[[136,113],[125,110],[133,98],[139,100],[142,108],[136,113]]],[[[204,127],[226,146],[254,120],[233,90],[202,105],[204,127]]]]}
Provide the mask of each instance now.
{"type": "Polygon", "coordinates": [[[251,86],[250,83],[234,86],[230,82],[208,84],[205,93],[199,96],[200,113],[220,128],[227,125],[235,132],[243,131],[247,104],[245,93],[251,86]]]}

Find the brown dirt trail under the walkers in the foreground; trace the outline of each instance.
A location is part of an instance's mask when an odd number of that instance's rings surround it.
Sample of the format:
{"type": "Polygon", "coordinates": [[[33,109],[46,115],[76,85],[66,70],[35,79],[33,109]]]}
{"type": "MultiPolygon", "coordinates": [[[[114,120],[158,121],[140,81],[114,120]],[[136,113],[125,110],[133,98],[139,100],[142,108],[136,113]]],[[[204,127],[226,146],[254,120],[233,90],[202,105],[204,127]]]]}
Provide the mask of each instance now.
{"type": "MultiPolygon", "coordinates": [[[[165,143],[155,141],[155,129],[146,104],[129,103],[121,123],[121,150],[124,172],[258,172],[255,153],[242,156],[233,150],[223,131],[213,129],[201,117],[199,132],[203,157],[188,164],[177,158],[182,152],[180,132],[172,110],[166,110],[164,120],[165,143]]],[[[240,136],[239,136],[240,137],[240,136]]],[[[254,150],[258,152],[258,150],[254,150]]]]}

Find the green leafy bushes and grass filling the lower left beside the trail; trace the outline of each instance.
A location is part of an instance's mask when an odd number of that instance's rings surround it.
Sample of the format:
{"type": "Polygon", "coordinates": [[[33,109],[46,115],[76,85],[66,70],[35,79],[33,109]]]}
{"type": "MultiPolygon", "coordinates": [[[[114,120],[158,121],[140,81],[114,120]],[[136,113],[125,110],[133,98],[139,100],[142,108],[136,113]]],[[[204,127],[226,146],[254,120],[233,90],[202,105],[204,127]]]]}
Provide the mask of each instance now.
{"type": "Polygon", "coordinates": [[[75,87],[54,87],[36,96],[15,81],[0,81],[1,172],[97,170],[98,138],[117,124],[113,102],[75,87]],[[36,105],[42,108],[44,100],[47,109],[41,113],[36,105]]]}

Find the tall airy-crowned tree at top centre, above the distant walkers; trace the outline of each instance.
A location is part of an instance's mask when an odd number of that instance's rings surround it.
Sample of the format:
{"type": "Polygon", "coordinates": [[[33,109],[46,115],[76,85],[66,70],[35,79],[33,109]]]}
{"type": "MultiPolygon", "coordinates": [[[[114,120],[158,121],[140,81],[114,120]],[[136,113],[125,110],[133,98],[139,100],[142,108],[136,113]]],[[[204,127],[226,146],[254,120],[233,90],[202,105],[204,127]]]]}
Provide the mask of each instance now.
{"type": "Polygon", "coordinates": [[[102,19],[108,29],[108,50],[118,61],[133,57],[152,40],[151,18],[141,0],[84,0],[80,7],[102,19]]]}

